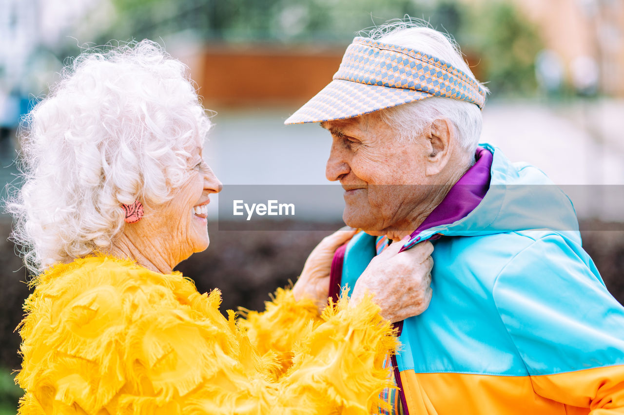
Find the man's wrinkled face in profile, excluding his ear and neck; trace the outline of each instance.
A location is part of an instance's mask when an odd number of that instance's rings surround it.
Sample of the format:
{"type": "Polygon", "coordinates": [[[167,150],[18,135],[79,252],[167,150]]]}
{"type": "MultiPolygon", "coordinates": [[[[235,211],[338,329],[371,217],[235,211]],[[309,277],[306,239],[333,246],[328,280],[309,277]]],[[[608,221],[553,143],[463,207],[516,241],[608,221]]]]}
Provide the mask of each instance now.
{"type": "Polygon", "coordinates": [[[424,137],[399,142],[378,113],[321,123],[332,137],[325,174],[344,188],[343,219],[373,235],[413,231],[411,219],[426,205],[424,137]]]}

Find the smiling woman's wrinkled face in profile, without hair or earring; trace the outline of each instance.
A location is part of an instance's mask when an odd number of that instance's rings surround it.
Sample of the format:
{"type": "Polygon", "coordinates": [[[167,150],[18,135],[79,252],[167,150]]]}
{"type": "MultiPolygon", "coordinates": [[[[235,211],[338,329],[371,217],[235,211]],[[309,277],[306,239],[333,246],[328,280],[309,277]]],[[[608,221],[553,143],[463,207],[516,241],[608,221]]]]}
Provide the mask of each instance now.
{"type": "Polygon", "coordinates": [[[173,198],[158,208],[154,228],[160,229],[165,246],[178,262],[208,247],[207,209],[210,193],[222,184],[202,158],[202,147],[190,151],[187,181],[173,190],[173,198]]]}

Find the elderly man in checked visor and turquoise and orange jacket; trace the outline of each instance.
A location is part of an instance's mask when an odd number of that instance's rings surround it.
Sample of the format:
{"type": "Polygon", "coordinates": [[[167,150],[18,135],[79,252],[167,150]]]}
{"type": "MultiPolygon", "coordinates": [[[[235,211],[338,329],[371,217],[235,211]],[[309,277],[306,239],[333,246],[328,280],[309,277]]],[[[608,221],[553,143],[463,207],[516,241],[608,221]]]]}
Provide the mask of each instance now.
{"type": "Polygon", "coordinates": [[[336,253],[331,290],[388,240],[434,243],[431,304],[391,358],[391,413],[624,413],[624,308],[572,204],[539,169],[477,146],[487,90],[446,36],[406,26],[356,37],[286,120],[331,133],[327,178],[364,231],[336,253]]]}

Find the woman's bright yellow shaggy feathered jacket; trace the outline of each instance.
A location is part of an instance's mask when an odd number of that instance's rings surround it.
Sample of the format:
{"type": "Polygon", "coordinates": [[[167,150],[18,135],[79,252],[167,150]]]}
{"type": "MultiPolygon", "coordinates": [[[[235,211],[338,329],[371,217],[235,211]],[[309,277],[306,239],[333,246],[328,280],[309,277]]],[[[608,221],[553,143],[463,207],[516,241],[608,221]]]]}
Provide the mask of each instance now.
{"type": "Polygon", "coordinates": [[[368,414],[396,347],[369,299],[318,315],[278,290],[226,319],[220,292],[94,256],[52,267],[24,306],[20,414],[368,414]]]}

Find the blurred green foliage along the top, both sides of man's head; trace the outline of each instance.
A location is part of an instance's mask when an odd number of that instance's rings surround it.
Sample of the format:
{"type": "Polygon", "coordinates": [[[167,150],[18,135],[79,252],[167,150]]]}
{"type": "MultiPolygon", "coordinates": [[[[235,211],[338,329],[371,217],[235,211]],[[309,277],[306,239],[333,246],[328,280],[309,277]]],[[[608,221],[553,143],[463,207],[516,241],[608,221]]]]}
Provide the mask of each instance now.
{"type": "Polygon", "coordinates": [[[512,3],[502,0],[112,1],[117,19],[100,34],[100,44],[167,39],[178,32],[205,42],[346,44],[366,27],[405,15],[420,17],[456,36],[492,93],[527,95],[536,89],[539,36],[512,3]]]}

